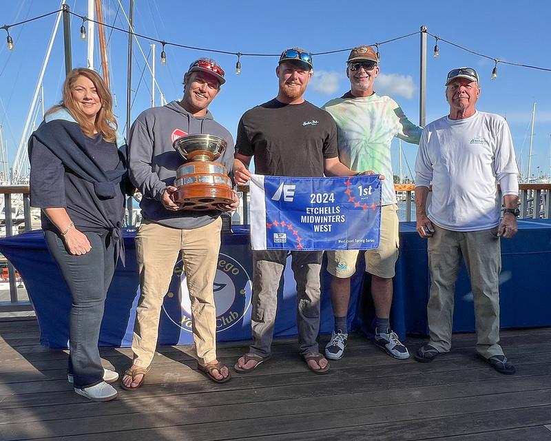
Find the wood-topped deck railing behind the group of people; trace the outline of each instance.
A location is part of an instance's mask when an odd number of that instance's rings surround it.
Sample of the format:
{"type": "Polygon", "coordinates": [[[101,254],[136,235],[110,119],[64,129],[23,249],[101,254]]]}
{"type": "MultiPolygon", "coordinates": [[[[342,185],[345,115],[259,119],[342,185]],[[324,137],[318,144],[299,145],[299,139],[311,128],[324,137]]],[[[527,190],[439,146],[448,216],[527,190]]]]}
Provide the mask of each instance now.
{"type": "MultiPolygon", "coordinates": [[[[398,196],[400,207],[405,210],[402,218],[406,221],[415,220],[415,201],[413,184],[395,185],[395,190],[398,196]]],[[[520,184],[520,218],[551,218],[551,184],[520,184]]],[[[249,209],[249,186],[238,187],[238,192],[242,198],[242,205],[238,212],[233,215],[233,223],[248,224],[250,222],[249,209]]],[[[29,186],[28,185],[0,185],[0,194],[3,194],[4,201],[4,219],[3,224],[6,227],[6,236],[14,234],[14,227],[17,227],[17,233],[29,231],[32,227],[30,201],[29,201],[29,186]],[[12,207],[14,195],[21,199],[23,205],[23,218],[13,218],[12,207]]],[[[430,198],[430,193],[429,193],[430,198]]],[[[134,198],[127,199],[127,224],[136,224],[136,202],[134,198]]],[[[22,281],[18,280],[17,273],[11,263],[7,262],[8,277],[9,277],[9,300],[0,297],[0,312],[9,311],[29,311],[32,310],[30,301],[26,298],[19,298],[17,291],[18,284],[22,287],[22,281]]],[[[24,292],[24,291],[23,291],[24,292]]],[[[0,291],[0,296],[2,296],[0,291]]],[[[26,297],[26,296],[25,296],[26,297]]]]}

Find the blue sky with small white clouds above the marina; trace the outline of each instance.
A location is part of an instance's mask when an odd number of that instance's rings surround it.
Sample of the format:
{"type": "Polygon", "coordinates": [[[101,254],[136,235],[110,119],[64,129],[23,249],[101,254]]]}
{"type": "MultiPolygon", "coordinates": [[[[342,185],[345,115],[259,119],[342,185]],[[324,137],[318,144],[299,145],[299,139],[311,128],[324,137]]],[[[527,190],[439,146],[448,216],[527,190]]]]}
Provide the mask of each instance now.
{"type": "MultiPolygon", "coordinates": [[[[128,0],[120,0],[127,12],[128,0]]],[[[119,0],[104,0],[104,21],[127,28],[119,0]]],[[[54,0],[3,1],[1,24],[15,23],[59,8],[54,0]]],[[[87,14],[87,1],[68,0],[71,10],[87,14]]],[[[183,45],[231,52],[279,54],[283,49],[300,46],[311,52],[325,52],[372,44],[419,31],[428,31],[458,45],[492,58],[551,68],[548,48],[548,20],[551,3],[518,1],[481,1],[450,3],[361,2],[361,1],[176,1],[136,0],[135,30],[154,38],[183,45]]],[[[46,17],[10,29],[15,48],[9,52],[6,34],[0,39],[0,123],[8,143],[9,158],[19,145],[41,62],[52,32],[55,16],[46,17]]],[[[74,67],[86,64],[86,43],[79,38],[81,20],[72,18],[72,57],[74,67]]],[[[116,96],[115,113],[121,129],[126,121],[127,35],[110,35],[112,91],[116,96]]],[[[146,56],[149,41],[140,41],[146,56]]],[[[444,116],[444,79],[448,70],[470,65],[481,77],[479,110],[506,116],[513,134],[518,163],[526,176],[530,115],[537,103],[534,123],[532,169],[534,175],[551,175],[551,72],[498,65],[498,76],[490,80],[494,62],[439,42],[440,56],[433,58],[435,40],[428,37],[428,75],[426,121],[444,116]],[[537,168],[539,167],[539,169],[537,168]]],[[[134,44],[132,120],[149,106],[151,76],[134,44]],[[139,83],[139,84],[138,84],[139,83]]],[[[198,57],[213,57],[227,74],[227,83],[211,105],[215,118],[233,134],[240,116],[250,107],[273,98],[277,93],[276,57],[242,57],[242,74],[236,76],[234,55],[212,54],[167,46],[167,65],[160,66],[160,45],[156,46],[156,78],[167,101],[180,99],[183,72],[198,57]]],[[[409,119],[419,123],[419,35],[380,47],[381,75],[375,83],[379,94],[392,96],[409,119]]],[[[345,75],[347,52],[314,57],[315,76],[306,99],[322,105],[349,90],[345,75]]],[[[99,54],[94,67],[98,69],[99,54]]],[[[54,42],[44,77],[44,104],[48,108],[61,97],[63,39],[61,28],[54,42]]],[[[158,92],[157,92],[158,97],[158,92]]],[[[40,118],[37,120],[39,123],[40,118]]],[[[282,127],[284,130],[284,127],[282,127]]],[[[413,172],[415,146],[404,143],[404,175],[413,172]]],[[[393,144],[394,172],[398,172],[397,141],[393,144]]]]}

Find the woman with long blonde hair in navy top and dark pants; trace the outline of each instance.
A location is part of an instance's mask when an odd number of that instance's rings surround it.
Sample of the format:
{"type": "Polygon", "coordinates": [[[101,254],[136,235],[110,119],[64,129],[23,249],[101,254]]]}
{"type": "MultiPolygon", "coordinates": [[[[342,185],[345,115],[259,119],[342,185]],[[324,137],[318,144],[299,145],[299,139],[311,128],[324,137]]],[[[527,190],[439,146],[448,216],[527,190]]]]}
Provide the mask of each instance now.
{"type": "Polygon", "coordinates": [[[126,145],[116,131],[111,92],[93,70],[73,69],[63,100],[30,137],[30,200],[42,209],[50,254],[72,295],[67,379],[93,401],[116,398],[98,350],[107,289],[124,261],[126,145]]]}

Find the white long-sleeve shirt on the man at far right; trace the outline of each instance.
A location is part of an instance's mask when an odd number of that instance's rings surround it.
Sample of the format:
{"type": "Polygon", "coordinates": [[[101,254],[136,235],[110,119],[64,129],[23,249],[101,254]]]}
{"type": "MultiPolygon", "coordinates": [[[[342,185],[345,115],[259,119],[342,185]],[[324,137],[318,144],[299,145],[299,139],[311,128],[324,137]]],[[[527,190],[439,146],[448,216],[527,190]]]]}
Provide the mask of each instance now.
{"type": "Polygon", "coordinates": [[[479,231],[499,225],[501,193],[519,194],[519,174],[507,121],[476,112],[444,116],[424,129],[415,161],[415,185],[433,183],[427,216],[439,227],[479,231]]]}

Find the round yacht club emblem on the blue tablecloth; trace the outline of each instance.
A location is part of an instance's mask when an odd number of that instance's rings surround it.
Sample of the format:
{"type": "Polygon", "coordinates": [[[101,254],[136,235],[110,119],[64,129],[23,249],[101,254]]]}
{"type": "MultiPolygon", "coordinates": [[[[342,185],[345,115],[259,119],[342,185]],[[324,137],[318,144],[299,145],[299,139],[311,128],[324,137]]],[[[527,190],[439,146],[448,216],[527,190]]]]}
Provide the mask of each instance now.
{"type": "MultiPolygon", "coordinates": [[[[170,288],[163,302],[163,313],[174,325],[191,332],[191,300],[181,258],[174,266],[170,288]]],[[[240,322],[251,307],[251,293],[252,282],[245,268],[231,256],[220,253],[214,277],[217,333],[240,322]]]]}

